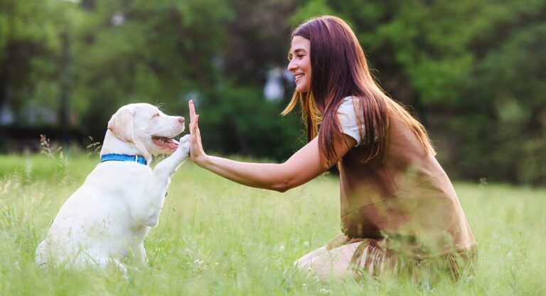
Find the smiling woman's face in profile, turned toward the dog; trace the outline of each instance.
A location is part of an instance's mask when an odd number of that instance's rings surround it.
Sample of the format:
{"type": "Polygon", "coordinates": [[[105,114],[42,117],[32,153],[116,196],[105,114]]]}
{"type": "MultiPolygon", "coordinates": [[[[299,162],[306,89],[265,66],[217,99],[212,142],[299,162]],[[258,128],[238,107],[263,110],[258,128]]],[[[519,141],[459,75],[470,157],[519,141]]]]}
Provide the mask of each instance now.
{"type": "Polygon", "coordinates": [[[294,36],[290,47],[288,70],[294,74],[296,92],[311,90],[311,42],[301,36],[294,36]]]}

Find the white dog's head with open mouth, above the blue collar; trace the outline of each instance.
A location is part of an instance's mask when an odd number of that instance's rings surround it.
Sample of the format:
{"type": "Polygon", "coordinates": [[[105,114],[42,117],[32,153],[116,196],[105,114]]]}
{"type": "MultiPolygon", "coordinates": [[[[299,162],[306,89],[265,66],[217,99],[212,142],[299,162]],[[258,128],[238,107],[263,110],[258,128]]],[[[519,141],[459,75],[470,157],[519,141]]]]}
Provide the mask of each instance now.
{"type": "Polygon", "coordinates": [[[172,154],[176,150],[178,142],[173,137],[184,131],[184,117],[165,115],[150,104],[129,104],[112,115],[108,129],[150,159],[151,155],[172,154]]]}

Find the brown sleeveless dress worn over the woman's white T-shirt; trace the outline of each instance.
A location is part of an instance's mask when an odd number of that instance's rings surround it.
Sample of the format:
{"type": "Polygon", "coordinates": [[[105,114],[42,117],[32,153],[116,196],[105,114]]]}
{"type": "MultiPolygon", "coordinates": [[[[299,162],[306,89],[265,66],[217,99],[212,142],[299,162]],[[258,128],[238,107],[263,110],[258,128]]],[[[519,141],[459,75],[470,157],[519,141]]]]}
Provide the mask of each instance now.
{"type": "Polygon", "coordinates": [[[363,241],[351,260],[359,273],[472,277],[476,240],[451,181],[412,130],[391,117],[385,157],[363,164],[359,149],[341,159],[343,235],[328,248],[363,241]]]}

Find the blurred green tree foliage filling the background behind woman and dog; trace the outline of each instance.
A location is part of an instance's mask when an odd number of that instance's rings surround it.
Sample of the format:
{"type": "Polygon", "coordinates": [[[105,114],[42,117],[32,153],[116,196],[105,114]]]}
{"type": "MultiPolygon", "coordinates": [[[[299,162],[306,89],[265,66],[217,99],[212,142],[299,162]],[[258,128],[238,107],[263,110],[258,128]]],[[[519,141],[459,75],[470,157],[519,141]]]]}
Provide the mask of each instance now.
{"type": "Polygon", "coordinates": [[[264,101],[265,73],[321,14],[350,23],[450,176],[546,184],[542,0],[1,0],[0,108],[57,110],[64,94],[72,125],[100,138],[120,105],[186,114],[194,98],[210,149],[286,159],[300,126],[278,116],[290,91],[264,101]]]}

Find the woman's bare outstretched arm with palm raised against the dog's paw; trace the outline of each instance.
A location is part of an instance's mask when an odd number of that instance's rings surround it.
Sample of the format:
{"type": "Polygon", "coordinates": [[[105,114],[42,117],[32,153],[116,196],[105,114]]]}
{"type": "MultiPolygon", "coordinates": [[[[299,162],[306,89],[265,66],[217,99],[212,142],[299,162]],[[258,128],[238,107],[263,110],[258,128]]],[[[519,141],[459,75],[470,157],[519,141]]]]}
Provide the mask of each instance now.
{"type": "MultiPolygon", "coordinates": [[[[328,166],[323,166],[319,154],[317,139],[313,139],[299,149],[283,164],[257,164],[236,162],[231,159],[212,157],[203,151],[198,127],[199,115],[196,115],[193,101],[190,107],[191,159],[198,166],[239,184],[284,192],[306,183],[328,170],[338,159],[333,159],[328,166]]],[[[337,154],[343,157],[350,147],[356,144],[355,139],[345,135],[348,145],[339,145],[337,154]]]]}

